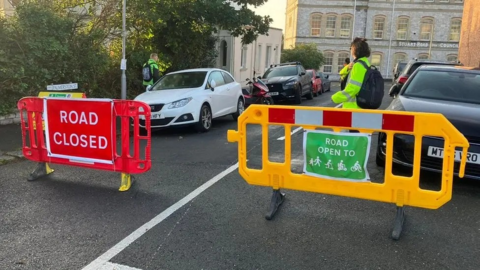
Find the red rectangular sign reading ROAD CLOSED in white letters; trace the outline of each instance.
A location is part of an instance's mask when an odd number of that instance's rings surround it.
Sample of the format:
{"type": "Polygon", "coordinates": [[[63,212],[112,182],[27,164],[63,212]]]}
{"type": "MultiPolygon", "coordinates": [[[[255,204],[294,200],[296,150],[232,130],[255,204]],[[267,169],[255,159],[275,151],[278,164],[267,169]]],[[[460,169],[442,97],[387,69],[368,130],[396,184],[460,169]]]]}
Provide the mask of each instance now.
{"type": "Polygon", "coordinates": [[[113,100],[44,99],[48,155],[113,164],[113,100]]]}

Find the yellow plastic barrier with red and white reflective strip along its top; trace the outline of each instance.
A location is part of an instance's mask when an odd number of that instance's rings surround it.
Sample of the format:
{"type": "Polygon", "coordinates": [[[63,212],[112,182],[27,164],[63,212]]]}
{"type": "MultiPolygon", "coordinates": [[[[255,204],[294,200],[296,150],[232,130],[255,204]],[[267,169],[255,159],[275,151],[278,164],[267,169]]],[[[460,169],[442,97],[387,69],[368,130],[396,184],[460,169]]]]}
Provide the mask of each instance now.
{"type": "MultiPolygon", "coordinates": [[[[327,134],[326,136],[335,135],[327,134]]],[[[404,206],[438,209],[450,201],[455,148],[463,148],[460,177],[463,177],[465,173],[467,149],[469,148],[467,139],[441,114],[265,105],[251,105],[238,119],[238,130],[228,131],[228,141],[238,142],[239,173],[245,181],[251,185],[273,188],[267,219],[270,220],[274,216],[284,200],[284,194],[280,192],[282,188],[394,203],[397,206],[397,216],[392,233],[393,239],[400,237],[404,221],[404,206]],[[261,170],[247,167],[246,127],[248,124],[257,124],[262,127],[261,170]],[[285,161],[283,163],[271,162],[268,159],[269,125],[285,128],[285,161]],[[335,177],[319,176],[307,172],[304,174],[293,173],[290,168],[292,126],[303,127],[307,132],[313,131],[315,128],[330,128],[334,131],[333,134],[343,134],[344,136],[368,136],[375,131],[385,133],[387,143],[384,182],[342,181],[345,179],[339,181],[338,177],[335,179],[335,177]],[[341,132],[347,129],[358,130],[360,133],[341,132]],[[413,175],[411,177],[392,173],[393,137],[398,133],[412,135],[415,138],[413,175]],[[442,187],[439,191],[423,190],[419,187],[422,138],[424,136],[444,138],[442,187]]],[[[368,146],[370,147],[370,142],[368,146]]],[[[318,151],[322,153],[329,150],[319,148],[318,151]]],[[[333,150],[330,149],[330,151],[333,150]]],[[[368,154],[369,150],[367,159],[368,154]]],[[[312,158],[306,162],[309,162],[310,165],[314,165],[316,162],[320,164],[321,161],[318,157],[316,159],[315,161],[312,158]]],[[[358,164],[355,165],[358,166],[358,164]]],[[[364,168],[366,168],[366,163],[364,168]]]]}

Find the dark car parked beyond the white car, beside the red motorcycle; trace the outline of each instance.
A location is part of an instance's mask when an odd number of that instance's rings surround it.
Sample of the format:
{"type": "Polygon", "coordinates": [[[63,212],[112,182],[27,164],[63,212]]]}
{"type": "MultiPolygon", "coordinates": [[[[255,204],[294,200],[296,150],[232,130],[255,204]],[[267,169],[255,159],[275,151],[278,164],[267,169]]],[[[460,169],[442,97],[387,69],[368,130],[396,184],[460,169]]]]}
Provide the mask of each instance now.
{"type": "Polygon", "coordinates": [[[269,68],[262,76],[275,102],[302,103],[302,97],[313,99],[312,77],[299,62],[283,63],[269,68]]]}

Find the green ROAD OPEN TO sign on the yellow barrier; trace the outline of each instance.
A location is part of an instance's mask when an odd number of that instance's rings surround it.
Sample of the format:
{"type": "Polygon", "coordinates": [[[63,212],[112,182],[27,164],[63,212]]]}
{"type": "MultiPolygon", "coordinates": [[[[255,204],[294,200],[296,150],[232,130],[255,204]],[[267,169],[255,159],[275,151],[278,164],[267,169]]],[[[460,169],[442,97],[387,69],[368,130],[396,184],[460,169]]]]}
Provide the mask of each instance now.
{"type": "Polygon", "coordinates": [[[367,182],[371,135],[308,130],[303,135],[304,172],[326,179],[367,182]]]}

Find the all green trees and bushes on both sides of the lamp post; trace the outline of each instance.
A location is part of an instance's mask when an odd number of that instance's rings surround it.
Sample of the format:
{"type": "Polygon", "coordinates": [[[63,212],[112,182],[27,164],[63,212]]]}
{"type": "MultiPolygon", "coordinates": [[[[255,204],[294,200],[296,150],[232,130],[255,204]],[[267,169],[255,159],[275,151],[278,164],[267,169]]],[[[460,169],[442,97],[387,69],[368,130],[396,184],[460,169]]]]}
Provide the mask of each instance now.
{"type": "MultiPolygon", "coordinates": [[[[141,67],[152,52],[159,54],[162,73],[210,67],[220,29],[244,44],[268,33],[272,19],[249,9],[266,1],[128,0],[128,98],[144,91],[141,67]]],[[[14,4],[15,16],[0,18],[0,115],[48,84],[77,82],[88,97],[120,98],[121,0],[14,4]]]]}

